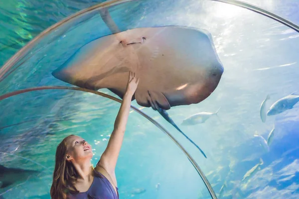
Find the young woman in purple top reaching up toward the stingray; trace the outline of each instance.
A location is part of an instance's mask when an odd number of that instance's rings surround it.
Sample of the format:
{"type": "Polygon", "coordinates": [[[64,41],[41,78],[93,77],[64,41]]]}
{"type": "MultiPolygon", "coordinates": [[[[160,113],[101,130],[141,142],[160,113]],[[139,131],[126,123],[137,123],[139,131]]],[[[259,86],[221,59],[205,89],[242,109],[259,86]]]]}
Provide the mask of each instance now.
{"type": "Polygon", "coordinates": [[[139,78],[130,72],[114,130],[95,168],[90,162],[91,146],[83,138],[69,135],[58,144],[50,191],[52,199],[119,199],[115,167],[138,83],[139,78]]]}

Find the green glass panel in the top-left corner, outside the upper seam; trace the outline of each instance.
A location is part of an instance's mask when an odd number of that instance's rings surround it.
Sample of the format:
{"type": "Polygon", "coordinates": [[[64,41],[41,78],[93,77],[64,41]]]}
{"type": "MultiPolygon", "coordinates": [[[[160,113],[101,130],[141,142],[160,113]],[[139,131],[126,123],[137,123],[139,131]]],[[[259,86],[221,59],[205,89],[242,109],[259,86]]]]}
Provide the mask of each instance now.
{"type": "Polygon", "coordinates": [[[9,0],[0,4],[0,66],[28,41],[81,9],[102,0],[9,0]]]}

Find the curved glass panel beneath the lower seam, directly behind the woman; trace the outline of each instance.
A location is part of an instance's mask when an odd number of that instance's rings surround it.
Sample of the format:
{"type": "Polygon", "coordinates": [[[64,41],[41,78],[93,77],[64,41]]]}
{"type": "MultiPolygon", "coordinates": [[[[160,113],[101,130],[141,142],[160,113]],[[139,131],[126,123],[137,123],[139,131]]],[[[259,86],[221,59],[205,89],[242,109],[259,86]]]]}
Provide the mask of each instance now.
{"type": "MultiPolygon", "coordinates": [[[[80,91],[45,90],[1,100],[0,107],[7,107],[0,122],[1,164],[22,169],[17,176],[5,170],[13,184],[1,194],[23,199],[49,198],[56,146],[67,135],[79,135],[92,145],[95,166],[120,103],[80,91]]],[[[182,151],[135,111],[130,112],[116,175],[120,198],[210,198],[182,151]]]]}

